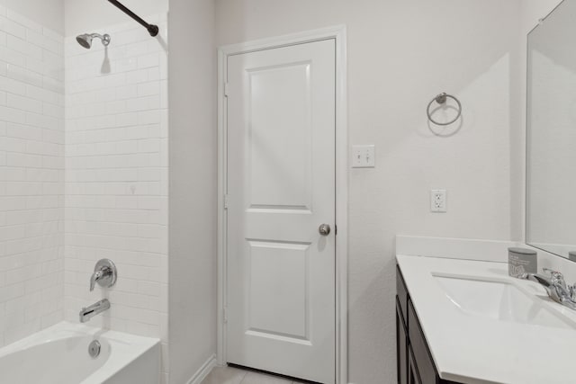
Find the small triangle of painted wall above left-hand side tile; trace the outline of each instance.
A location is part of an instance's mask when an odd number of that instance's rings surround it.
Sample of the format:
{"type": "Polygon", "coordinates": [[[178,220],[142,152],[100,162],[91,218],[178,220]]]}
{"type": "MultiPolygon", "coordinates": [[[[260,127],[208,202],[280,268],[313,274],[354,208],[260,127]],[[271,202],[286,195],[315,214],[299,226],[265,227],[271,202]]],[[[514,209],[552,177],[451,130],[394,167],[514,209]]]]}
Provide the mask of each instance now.
{"type": "Polygon", "coordinates": [[[0,0],[0,4],[50,30],[64,33],[65,0],[0,0]]]}

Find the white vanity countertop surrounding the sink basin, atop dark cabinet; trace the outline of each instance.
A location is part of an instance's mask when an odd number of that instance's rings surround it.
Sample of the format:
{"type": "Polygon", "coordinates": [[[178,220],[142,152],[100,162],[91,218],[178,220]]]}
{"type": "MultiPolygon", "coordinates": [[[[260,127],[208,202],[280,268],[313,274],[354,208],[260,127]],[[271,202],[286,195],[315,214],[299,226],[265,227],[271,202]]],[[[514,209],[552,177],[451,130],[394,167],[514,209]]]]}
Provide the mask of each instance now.
{"type": "Polygon", "coordinates": [[[397,255],[396,259],[442,379],[466,384],[576,382],[576,311],[548,299],[543,287],[509,277],[507,263],[409,255],[397,255]],[[435,274],[508,281],[568,317],[566,324],[572,328],[465,313],[447,297],[435,274]]]}

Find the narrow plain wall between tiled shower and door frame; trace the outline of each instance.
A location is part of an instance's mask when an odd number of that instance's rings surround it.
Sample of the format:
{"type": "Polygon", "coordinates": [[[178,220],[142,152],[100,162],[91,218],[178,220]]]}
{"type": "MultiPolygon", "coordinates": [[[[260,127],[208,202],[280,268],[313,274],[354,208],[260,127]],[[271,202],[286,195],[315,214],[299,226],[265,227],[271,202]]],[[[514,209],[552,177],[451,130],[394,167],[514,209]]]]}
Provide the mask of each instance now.
{"type": "Polygon", "coordinates": [[[170,1],[170,382],[216,353],[213,0],[170,1]]]}

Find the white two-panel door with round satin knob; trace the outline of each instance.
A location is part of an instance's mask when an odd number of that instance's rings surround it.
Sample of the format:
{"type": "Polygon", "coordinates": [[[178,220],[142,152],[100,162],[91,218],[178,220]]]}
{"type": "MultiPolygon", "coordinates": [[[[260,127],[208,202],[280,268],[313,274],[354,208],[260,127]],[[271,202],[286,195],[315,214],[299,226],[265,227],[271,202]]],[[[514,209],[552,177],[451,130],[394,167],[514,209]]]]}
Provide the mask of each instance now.
{"type": "Polygon", "coordinates": [[[335,40],[321,40],[231,56],[227,91],[227,360],[326,384],[336,367],[335,53],[335,40]]]}

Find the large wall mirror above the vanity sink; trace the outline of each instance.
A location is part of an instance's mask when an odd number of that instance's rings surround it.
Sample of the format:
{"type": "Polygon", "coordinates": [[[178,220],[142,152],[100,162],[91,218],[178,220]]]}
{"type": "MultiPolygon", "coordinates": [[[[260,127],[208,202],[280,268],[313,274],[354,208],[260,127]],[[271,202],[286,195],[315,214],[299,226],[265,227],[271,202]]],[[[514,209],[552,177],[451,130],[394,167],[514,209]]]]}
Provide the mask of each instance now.
{"type": "Polygon", "coordinates": [[[527,244],[576,261],[576,0],[528,34],[527,244]]]}

